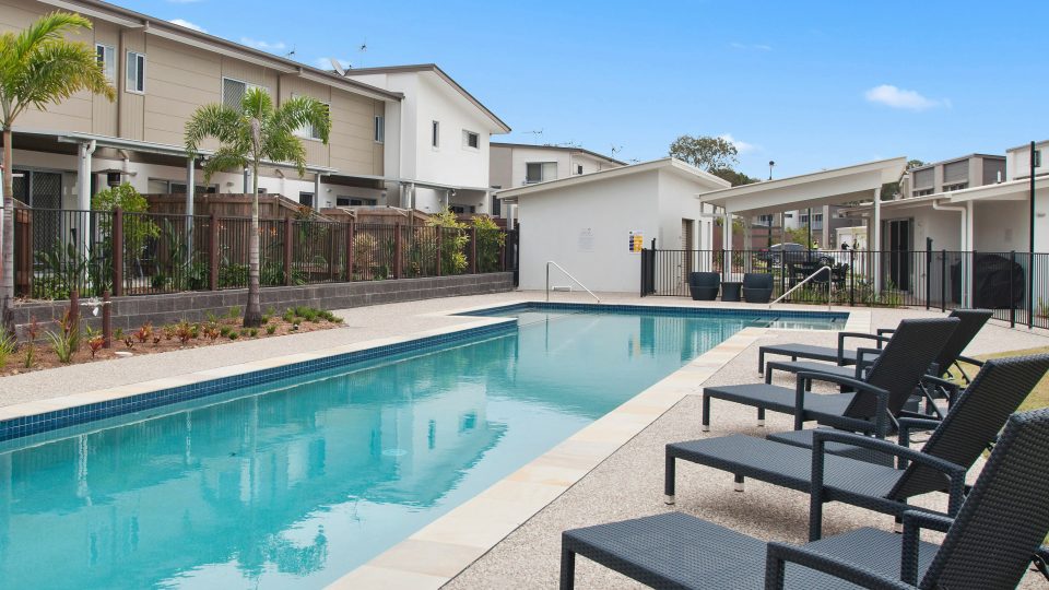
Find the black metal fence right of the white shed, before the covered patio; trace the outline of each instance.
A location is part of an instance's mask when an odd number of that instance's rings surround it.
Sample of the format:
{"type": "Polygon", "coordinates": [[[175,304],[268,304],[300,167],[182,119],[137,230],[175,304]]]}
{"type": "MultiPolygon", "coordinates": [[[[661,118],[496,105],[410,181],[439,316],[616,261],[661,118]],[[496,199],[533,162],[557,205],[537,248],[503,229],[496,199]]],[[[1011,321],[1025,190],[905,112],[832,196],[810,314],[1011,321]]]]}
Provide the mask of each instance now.
{"type": "Polygon", "coordinates": [[[646,249],[641,296],[687,297],[693,272],[716,272],[722,281],[771,274],[774,298],[789,293],[790,303],[826,304],[829,293],[835,305],[981,307],[1014,326],[1049,328],[1049,253],[646,249]]]}

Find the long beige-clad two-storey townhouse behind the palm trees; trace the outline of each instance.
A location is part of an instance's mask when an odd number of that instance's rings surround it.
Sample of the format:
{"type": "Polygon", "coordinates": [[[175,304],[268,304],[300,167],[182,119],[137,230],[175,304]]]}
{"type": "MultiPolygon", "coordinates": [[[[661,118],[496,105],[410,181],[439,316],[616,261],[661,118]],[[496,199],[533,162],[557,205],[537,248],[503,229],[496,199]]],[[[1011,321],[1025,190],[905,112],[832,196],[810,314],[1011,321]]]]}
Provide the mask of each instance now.
{"type": "MultiPolygon", "coordinates": [[[[20,117],[17,199],[40,209],[87,209],[93,193],[120,181],[143,193],[187,193],[188,203],[200,192],[249,192],[239,170],[205,186],[202,161],[184,150],[184,129],[198,107],[236,106],[247,88],[259,86],[278,104],[313,96],[332,118],[327,145],[314,130],[300,130],[307,175],[267,163],[262,190],[318,208],[385,201],[389,142],[380,131],[387,111],[399,108],[399,93],[96,0],[0,0],[0,31],[21,31],[56,9],[92,21],[92,30],[71,38],[94,47],[117,98],[85,92],[20,117]]],[[[205,144],[202,157],[215,146],[205,144]]]]}

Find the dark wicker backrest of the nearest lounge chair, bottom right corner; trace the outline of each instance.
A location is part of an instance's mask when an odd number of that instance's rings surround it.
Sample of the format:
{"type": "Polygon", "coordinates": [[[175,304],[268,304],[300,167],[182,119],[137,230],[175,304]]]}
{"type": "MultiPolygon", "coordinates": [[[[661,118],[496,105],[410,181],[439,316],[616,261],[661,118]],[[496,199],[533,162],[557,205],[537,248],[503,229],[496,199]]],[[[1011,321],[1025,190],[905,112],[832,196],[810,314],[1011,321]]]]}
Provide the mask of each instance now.
{"type": "Polygon", "coordinates": [[[921,588],[1015,588],[1049,533],[1049,409],[1014,414],[921,588]]]}

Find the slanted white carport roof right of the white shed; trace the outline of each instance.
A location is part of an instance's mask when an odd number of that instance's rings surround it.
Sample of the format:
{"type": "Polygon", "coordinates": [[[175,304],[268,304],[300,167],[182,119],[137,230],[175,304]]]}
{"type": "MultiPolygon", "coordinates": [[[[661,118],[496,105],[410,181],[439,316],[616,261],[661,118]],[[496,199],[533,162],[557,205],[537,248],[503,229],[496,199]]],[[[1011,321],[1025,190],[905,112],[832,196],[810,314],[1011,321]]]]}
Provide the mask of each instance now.
{"type": "Polygon", "coordinates": [[[899,180],[906,168],[906,157],[879,160],[715,190],[699,194],[697,199],[741,215],[872,200],[875,189],[899,180]]]}

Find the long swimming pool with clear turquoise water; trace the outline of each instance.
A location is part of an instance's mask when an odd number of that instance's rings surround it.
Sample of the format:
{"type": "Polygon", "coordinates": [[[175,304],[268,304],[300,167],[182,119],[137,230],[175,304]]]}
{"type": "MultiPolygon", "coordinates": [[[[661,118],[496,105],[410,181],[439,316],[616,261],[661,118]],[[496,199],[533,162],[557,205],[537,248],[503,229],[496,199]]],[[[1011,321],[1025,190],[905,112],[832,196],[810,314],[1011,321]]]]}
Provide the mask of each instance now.
{"type": "Polygon", "coordinates": [[[322,586],[740,329],[834,329],[846,317],[475,315],[517,326],[3,442],[0,579],[322,586]]]}

